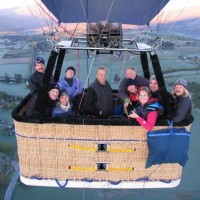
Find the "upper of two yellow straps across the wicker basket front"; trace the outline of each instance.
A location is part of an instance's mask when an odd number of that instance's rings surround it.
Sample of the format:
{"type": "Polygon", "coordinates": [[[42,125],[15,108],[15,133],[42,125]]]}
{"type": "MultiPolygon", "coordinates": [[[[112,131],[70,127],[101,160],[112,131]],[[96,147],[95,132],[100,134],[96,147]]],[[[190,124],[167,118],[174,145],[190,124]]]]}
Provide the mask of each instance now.
{"type": "MultiPolygon", "coordinates": [[[[79,146],[79,145],[69,145],[70,148],[73,149],[81,149],[81,150],[88,150],[88,151],[98,151],[97,148],[94,147],[85,147],[85,146],[79,146]]],[[[135,152],[136,149],[109,149],[107,152],[112,153],[132,153],[135,152]]]]}

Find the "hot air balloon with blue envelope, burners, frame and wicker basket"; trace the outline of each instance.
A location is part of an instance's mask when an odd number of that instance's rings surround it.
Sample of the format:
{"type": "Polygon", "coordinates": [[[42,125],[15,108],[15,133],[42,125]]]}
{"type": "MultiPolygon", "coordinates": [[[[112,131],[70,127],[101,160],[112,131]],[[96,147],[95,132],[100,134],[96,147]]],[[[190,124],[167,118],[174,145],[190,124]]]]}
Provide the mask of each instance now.
{"type": "MultiPolygon", "coordinates": [[[[123,38],[122,24],[148,26],[169,0],[42,0],[60,23],[86,23],[84,37],[71,37],[55,44],[50,53],[41,85],[59,80],[66,50],[93,52],[93,56],[131,52],[141,58],[144,77],[150,77],[148,56],[152,61],[161,95],[167,90],[155,46],[123,38]]],[[[45,11],[44,11],[45,12],[45,11]]],[[[87,91],[85,91],[87,93],[87,91]]],[[[113,96],[117,91],[113,90],[113,96]]],[[[48,118],[23,116],[21,110],[29,94],[12,112],[14,119],[20,179],[26,185],[78,188],[170,188],[181,181],[182,166],[163,162],[146,168],[149,149],[147,131],[128,118],[88,116],[48,118]]],[[[39,98],[36,110],[43,106],[39,98]]],[[[170,110],[170,103],[163,105],[170,110]]],[[[154,130],[168,128],[158,123],[154,130]]],[[[189,126],[185,126],[189,131],[189,126]]],[[[189,133],[187,135],[189,137],[189,133]]]]}

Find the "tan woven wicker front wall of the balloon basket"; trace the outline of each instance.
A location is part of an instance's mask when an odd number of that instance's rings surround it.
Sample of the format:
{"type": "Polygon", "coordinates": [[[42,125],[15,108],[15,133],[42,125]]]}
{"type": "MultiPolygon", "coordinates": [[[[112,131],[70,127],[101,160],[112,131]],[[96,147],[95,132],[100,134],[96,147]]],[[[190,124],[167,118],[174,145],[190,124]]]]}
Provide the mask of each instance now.
{"type": "Polygon", "coordinates": [[[137,181],[174,180],[182,173],[178,164],[145,169],[146,130],[140,126],[14,123],[20,171],[26,177],[137,181]]]}

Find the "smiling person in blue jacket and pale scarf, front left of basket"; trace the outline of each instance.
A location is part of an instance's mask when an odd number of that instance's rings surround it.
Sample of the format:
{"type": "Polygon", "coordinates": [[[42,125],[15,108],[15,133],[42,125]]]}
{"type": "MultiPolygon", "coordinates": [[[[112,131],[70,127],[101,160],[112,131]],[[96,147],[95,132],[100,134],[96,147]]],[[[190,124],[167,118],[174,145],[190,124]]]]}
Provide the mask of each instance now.
{"type": "Polygon", "coordinates": [[[72,103],[65,89],[59,91],[58,102],[53,109],[52,117],[68,117],[72,114],[72,103]]]}

